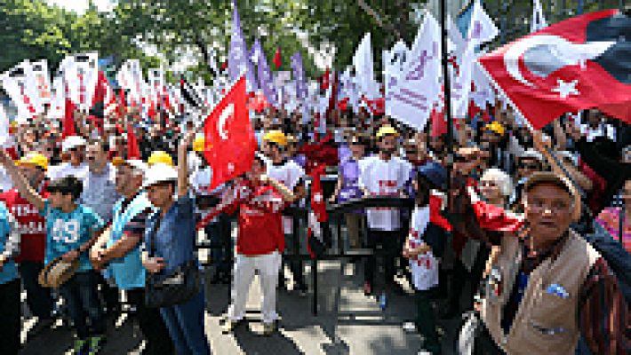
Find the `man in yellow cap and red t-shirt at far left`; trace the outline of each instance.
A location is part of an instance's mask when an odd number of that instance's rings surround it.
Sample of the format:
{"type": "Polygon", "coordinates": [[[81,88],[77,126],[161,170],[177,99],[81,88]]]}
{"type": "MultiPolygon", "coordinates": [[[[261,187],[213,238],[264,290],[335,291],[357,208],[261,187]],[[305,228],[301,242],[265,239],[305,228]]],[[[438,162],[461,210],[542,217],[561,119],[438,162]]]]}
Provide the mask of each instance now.
{"type": "MultiPolygon", "coordinates": [[[[42,197],[45,192],[44,176],[48,169],[48,159],[42,154],[29,153],[20,158],[15,164],[28,180],[28,185],[42,197]]],[[[37,275],[44,268],[44,249],[46,229],[44,217],[28,202],[16,188],[0,193],[0,201],[4,201],[7,209],[18,221],[17,233],[20,233],[20,255],[15,260],[20,264],[22,284],[27,291],[28,309],[37,317],[35,328],[31,333],[37,333],[52,324],[52,295],[47,288],[42,288],[37,282],[37,275]]]]}

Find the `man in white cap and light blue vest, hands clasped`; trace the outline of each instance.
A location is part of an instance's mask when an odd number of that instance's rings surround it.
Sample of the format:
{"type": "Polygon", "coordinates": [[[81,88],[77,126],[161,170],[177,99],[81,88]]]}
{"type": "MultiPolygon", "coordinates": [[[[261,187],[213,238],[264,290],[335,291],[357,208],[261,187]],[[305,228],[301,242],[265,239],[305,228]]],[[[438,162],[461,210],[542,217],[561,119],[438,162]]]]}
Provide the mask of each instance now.
{"type": "Polygon", "coordinates": [[[122,196],[112,206],[112,223],[91,249],[95,269],[108,267],[116,286],[124,290],[136,308],[136,318],[147,340],[144,353],[172,353],[173,344],[159,310],[145,305],[145,268],[140,261],[140,245],[145,224],[153,209],[147,193],[141,190],[147,166],[140,160],[119,162],[116,191],[122,196]]]}

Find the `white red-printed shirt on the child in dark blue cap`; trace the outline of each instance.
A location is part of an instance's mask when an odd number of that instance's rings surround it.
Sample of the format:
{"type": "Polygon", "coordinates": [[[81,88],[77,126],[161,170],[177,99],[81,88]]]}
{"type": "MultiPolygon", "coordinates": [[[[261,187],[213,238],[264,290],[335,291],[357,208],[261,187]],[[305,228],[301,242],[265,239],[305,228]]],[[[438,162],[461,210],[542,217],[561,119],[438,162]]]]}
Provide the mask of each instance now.
{"type": "MultiPolygon", "coordinates": [[[[423,234],[429,223],[429,206],[416,207],[411,215],[410,248],[423,243],[423,234]]],[[[414,288],[424,291],[438,285],[438,259],[429,251],[410,259],[411,278],[414,288]]]]}

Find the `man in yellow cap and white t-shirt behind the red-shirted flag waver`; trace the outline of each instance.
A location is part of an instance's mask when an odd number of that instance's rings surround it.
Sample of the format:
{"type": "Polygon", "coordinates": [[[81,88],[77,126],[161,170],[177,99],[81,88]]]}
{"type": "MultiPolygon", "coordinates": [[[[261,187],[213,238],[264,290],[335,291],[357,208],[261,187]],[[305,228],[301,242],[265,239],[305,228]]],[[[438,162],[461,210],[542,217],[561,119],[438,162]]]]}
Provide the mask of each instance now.
{"type": "MultiPolygon", "coordinates": [[[[272,177],[290,189],[294,196],[294,203],[301,203],[305,197],[306,190],[304,185],[305,170],[298,163],[287,159],[285,156],[285,148],[287,146],[287,138],[281,130],[270,130],[263,136],[264,151],[270,162],[268,164],[268,177],[272,177]]],[[[283,229],[285,235],[285,250],[291,254],[299,254],[304,248],[304,242],[300,242],[300,229],[294,228],[293,217],[283,216],[283,229]],[[298,239],[298,240],[296,240],[298,239]],[[296,249],[298,246],[298,249],[296,249]]],[[[302,272],[302,262],[294,260],[288,262],[283,257],[283,264],[289,264],[293,274],[294,290],[300,295],[307,292],[307,285],[304,281],[302,272]]],[[[282,272],[281,272],[282,275],[282,272]]],[[[281,287],[284,282],[280,283],[281,287]]]]}

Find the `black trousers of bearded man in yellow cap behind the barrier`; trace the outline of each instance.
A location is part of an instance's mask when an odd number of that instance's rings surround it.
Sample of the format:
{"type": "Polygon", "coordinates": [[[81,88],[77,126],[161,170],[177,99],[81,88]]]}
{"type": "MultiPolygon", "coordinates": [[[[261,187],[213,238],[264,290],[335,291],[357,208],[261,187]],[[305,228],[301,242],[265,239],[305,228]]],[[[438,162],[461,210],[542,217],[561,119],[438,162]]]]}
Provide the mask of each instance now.
{"type": "MultiPolygon", "coordinates": [[[[401,231],[379,231],[375,229],[368,230],[367,247],[371,248],[373,252],[377,252],[377,247],[381,247],[381,254],[384,263],[384,270],[386,273],[386,285],[395,282],[395,259],[397,256],[401,256],[403,249],[401,238],[401,231]]],[[[375,265],[377,264],[377,257],[375,255],[365,258],[363,266],[363,280],[374,284],[375,279],[375,265]]]]}

